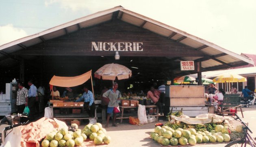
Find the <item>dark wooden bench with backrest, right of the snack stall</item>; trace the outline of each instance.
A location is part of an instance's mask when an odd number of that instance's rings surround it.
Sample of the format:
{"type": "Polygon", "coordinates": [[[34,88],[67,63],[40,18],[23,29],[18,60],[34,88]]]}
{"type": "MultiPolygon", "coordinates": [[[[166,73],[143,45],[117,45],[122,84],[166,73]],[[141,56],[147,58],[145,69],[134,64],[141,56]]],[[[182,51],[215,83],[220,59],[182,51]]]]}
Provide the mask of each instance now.
{"type": "MultiPolygon", "coordinates": [[[[240,94],[225,94],[223,97],[223,101],[219,105],[219,107],[221,107],[220,113],[222,114],[222,116],[224,116],[224,113],[225,114],[236,113],[238,107],[240,107],[240,111],[243,116],[243,111],[242,111],[242,107],[241,107],[242,105],[241,105],[240,101],[241,101],[240,94]],[[228,107],[228,109],[224,109],[224,107],[228,107]],[[229,112],[230,109],[235,109],[235,112],[229,112]],[[228,111],[228,112],[226,112],[226,111],[228,111]]],[[[218,113],[218,110],[217,110],[217,113],[218,113]]]]}

